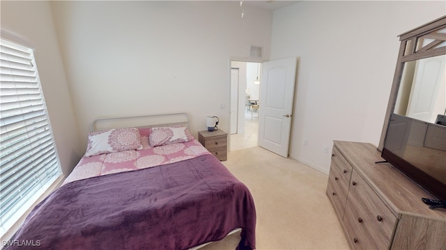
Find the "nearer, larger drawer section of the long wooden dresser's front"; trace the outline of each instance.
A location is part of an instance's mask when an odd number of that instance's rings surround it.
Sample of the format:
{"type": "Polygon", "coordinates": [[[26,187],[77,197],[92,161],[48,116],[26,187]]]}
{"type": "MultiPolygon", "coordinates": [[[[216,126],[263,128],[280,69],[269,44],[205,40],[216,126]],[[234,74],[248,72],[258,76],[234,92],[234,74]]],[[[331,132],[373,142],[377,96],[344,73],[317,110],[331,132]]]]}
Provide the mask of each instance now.
{"type": "Polygon", "coordinates": [[[344,226],[353,249],[389,249],[397,217],[353,170],[344,226]]]}

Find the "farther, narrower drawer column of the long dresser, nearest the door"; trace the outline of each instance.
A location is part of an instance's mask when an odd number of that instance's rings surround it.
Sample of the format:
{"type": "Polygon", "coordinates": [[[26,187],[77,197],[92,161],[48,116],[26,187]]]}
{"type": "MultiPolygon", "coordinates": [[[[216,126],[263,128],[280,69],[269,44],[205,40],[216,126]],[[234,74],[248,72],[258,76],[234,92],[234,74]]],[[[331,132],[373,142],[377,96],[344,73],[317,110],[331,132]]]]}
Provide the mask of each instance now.
{"type": "Polygon", "coordinates": [[[328,176],[327,196],[334,206],[339,219],[342,221],[347,201],[348,184],[353,167],[336,147],[332,151],[332,163],[328,176]]]}

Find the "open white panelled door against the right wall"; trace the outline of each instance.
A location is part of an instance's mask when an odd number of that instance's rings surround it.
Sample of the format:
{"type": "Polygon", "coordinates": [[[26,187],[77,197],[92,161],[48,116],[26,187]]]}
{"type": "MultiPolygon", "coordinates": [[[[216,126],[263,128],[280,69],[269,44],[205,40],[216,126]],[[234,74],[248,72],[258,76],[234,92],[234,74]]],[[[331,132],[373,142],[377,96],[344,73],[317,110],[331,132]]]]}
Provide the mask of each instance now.
{"type": "Polygon", "coordinates": [[[263,63],[259,146],[288,157],[297,58],[263,63]]]}

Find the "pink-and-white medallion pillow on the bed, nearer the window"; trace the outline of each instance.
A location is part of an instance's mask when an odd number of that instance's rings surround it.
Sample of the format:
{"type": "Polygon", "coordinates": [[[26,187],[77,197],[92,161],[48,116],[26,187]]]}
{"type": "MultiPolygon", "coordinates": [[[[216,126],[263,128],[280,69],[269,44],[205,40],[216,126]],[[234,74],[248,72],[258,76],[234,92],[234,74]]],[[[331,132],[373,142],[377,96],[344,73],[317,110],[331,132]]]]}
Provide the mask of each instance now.
{"type": "Polygon", "coordinates": [[[85,156],[139,149],[142,145],[137,128],[113,128],[89,133],[85,156]]]}

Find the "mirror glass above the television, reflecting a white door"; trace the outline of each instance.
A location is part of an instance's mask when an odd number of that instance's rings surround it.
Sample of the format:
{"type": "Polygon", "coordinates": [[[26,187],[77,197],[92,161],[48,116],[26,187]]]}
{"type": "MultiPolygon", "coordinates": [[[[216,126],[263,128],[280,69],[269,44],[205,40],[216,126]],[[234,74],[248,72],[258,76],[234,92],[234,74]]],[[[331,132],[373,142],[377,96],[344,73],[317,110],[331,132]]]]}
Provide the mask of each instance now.
{"type": "Polygon", "coordinates": [[[404,63],[394,113],[435,123],[446,115],[446,55],[404,63]]]}

